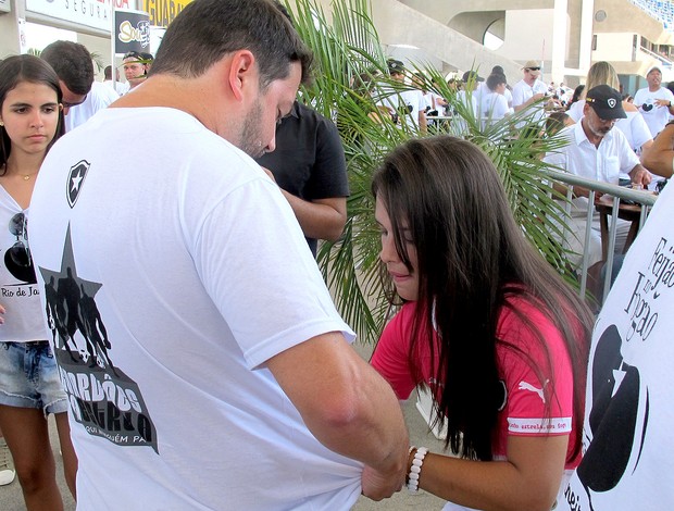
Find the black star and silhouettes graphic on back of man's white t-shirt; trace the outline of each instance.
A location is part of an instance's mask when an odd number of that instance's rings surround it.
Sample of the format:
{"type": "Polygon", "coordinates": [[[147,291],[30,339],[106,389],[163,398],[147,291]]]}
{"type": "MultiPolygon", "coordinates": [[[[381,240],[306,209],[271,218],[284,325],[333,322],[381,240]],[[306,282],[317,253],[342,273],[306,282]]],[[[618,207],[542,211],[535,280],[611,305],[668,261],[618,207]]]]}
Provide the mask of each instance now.
{"type": "Polygon", "coordinates": [[[77,274],[68,227],[59,271],[40,267],[47,319],[71,412],[90,435],[118,446],[147,446],[159,453],[157,429],[138,384],[112,361],[96,303],[101,284],[77,274]]]}

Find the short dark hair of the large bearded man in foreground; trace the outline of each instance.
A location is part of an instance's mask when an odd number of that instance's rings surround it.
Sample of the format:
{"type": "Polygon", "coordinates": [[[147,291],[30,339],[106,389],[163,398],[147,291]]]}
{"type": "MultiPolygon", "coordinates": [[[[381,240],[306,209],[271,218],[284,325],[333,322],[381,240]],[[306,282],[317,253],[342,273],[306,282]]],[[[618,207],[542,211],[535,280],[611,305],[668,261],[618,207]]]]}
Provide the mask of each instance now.
{"type": "Polygon", "coordinates": [[[201,76],[225,54],[250,50],[260,68],[260,86],[284,79],[290,63],[309,79],[311,50],[290,21],[270,0],[195,0],[168,25],[150,76],[201,76]]]}

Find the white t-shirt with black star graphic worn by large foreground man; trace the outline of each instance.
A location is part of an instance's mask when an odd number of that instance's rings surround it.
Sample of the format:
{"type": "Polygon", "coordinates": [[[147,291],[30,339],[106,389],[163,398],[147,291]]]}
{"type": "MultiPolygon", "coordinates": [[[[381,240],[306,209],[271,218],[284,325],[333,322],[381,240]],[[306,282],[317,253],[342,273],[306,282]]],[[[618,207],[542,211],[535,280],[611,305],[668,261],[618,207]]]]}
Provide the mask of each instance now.
{"type": "Polygon", "coordinates": [[[30,229],[41,282],[75,283],[98,331],[84,328],[97,360],[83,328],[77,360],[54,348],[78,507],[355,502],[362,465],[313,437],[265,367],[316,335],[353,334],[253,160],[182,111],[107,109],[47,155],[30,229]],[[151,148],[140,166],[110,158],[128,140],[151,148]]]}

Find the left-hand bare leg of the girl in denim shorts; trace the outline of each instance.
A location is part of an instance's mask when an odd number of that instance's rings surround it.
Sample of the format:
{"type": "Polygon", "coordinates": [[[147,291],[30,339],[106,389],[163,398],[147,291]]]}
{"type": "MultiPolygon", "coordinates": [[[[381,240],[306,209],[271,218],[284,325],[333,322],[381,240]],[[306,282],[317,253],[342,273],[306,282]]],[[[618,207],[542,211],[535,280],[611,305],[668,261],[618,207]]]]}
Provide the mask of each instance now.
{"type": "Polygon", "coordinates": [[[54,458],[41,410],[0,404],[0,427],[12,457],[28,511],[61,511],[54,458]]]}

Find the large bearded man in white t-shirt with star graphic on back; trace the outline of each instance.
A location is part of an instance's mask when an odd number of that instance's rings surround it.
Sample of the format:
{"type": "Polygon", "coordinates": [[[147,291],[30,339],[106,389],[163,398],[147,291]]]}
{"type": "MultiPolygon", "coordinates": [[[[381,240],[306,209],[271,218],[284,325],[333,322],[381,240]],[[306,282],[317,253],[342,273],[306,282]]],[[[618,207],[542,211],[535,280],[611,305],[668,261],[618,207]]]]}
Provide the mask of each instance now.
{"type": "Polygon", "coordinates": [[[45,160],[30,249],[82,509],[350,509],[404,483],[398,401],[251,159],[310,60],[273,2],[195,0],[45,160]],[[129,140],[140,165],[111,158],[129,140]]]}

